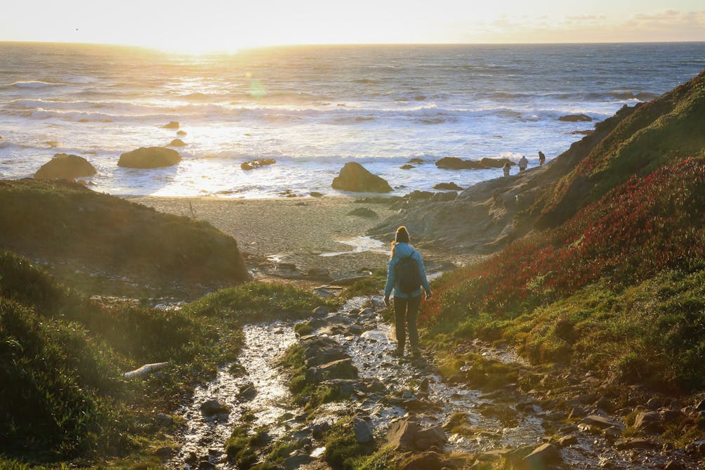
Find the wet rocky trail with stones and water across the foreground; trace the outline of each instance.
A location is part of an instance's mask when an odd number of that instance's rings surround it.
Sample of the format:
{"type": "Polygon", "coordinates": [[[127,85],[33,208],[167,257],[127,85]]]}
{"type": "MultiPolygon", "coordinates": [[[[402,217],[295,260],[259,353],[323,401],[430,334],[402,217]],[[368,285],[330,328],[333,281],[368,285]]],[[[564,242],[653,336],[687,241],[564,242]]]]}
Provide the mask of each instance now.
{"type": "MultiPolygon", "coordinates": [[[[262,437],[255,452],[259,461],[271,458],[286,440],[279,468],[330,468],[323,459],[324,435],[352,416],[358,442],[391,444],[405,453],[407,470],[492,468],[500,462],[517,469],[696,468],[695,459],[656,440],[623,438],[625,417],[603,411],[594,394],[577,397],[566,414],[517,382],[475,390],[467,382],[443,380],[430,354],[395,358],[381,311],[381,299],[357,297],[338,312],[317,308],[297,328],[306,334],[295,333],[293,322],[246,325],[238,362],[223,366],[181,410],[186,430],[168,466],[250,466],[254,462],[235,462],[225,450],[233,429],[245,426],[262,437]],[[293,344],[307,358],[307,382],[345,399],[312,409],[295,404],[290,375],[277,365],[293,344]]],[[[479,343],[472,348],[519,377],[532,373],[511,351],[479,343]]],[[[461,370],[473,367],[466,363],[461,370]]]]}

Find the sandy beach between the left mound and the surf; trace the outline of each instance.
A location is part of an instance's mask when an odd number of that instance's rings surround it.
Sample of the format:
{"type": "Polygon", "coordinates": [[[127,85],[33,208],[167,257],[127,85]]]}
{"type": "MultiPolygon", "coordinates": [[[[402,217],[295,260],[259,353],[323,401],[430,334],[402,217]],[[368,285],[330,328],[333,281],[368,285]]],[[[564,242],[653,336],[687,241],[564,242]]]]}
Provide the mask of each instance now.
{"type": "MultiPolygon", "coordinates": [[[[388,259],[390,241],[364,238],[393,213],[384,204],[356,203],[345,197],[128,199],[160,212],[205,220],[233,236],[256,277],[297,277],[310,270],[328,270],[333,279],[350,278],[384,268],[388,259]],[[361,208],[377,217],[350,215],[361,208]]],[[[424,259],[429,270],[442,261],[434,253],[424,253],[424,259]]]]}

